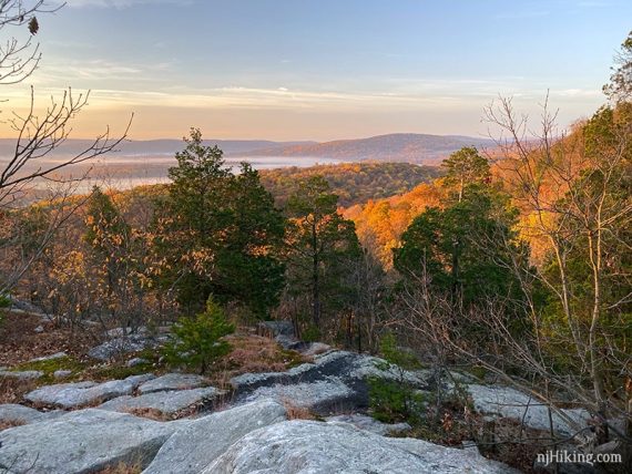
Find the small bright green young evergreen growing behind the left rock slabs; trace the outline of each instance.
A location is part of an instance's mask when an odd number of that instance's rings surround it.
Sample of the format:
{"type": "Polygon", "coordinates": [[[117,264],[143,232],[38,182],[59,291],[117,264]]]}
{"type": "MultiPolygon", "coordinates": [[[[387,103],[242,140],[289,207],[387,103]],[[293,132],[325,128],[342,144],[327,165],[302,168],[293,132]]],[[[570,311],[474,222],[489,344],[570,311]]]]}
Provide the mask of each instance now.
{"type": "Polygon", "coordinates": [[[231,344],[221,340],[235,331],[222,307],[210,297],[206,311],[195,318],[181,318],[173,328],[173,341],[163,349],[172,365],[185,365],[204,373],[220,358],[231,351],[231,344]]]}

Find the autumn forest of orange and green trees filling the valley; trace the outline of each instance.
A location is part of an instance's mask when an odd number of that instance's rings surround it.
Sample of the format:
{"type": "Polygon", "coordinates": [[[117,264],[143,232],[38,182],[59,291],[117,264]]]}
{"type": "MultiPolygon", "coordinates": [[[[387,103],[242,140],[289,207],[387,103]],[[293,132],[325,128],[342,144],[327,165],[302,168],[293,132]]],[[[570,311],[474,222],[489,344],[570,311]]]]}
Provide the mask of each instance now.
{"type": "MultiPolygon", "coordinates": [[[[23,188],[0,179],[0,305],[41,308],[70,346],[174,323],[160,363],[201,373],[238,328],[292,321],[303,341],[438,378],[461,368],[561,416],[585,409],[590,429],[570,439],[631,462],[632,34],[621,58],[608,104],[568,133],[547,105],[534,131],[500,97],[486,110],[497,147],[439,169],[234,173],[193,128],[167,185],[77,195],[67,183],[19,206],[23,188]]],[[[8,343],[16,317],[0,315],[8,343]]],[[[506,426],[486,444],[469,406],[458,391],[421,403],[406,383],[371,392],[377,418],[476,439],[507,462],[569,442],[506,426]]]]}

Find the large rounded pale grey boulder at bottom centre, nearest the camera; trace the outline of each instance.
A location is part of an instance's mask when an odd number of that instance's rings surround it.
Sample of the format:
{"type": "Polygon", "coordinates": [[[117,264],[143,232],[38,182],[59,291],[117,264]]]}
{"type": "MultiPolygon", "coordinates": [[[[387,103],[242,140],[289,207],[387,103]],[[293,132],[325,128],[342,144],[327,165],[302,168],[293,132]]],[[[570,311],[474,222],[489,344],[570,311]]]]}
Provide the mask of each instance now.
{"type": "Polygon", "coordinates": [[[420,440],[384,437],[348,424],[304,420],[282,422],[251,432],[202,472],[517,473],[476,453],[420,440]]]}

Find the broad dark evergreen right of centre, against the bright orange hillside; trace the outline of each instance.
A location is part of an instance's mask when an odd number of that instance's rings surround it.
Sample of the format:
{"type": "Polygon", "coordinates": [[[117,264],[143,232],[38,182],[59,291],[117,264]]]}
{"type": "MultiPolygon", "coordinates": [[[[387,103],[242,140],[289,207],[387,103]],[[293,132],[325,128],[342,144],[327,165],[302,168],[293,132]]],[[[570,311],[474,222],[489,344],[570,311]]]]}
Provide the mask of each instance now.
{"type": "Polygon", "coordinates": [[[528,265],[528,250],[514,243],[516,214],[498,195],[465,189],[467,199],[412,221],[394,249],[395,268],[409,281],[429,277],[466,306],[492,296],[520,299],[511,262],[528,265]]]}

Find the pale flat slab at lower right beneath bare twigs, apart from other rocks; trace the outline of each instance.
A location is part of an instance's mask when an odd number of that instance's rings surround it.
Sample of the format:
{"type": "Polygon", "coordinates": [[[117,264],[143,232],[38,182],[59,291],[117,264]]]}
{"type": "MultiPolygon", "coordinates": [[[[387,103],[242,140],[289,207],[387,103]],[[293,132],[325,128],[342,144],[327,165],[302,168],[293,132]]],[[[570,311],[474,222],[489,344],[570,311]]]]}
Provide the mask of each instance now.
{"type": "MultiPolygon", "coordinates": [[[[499,385],[467,385],[475,408],[487,414],[512,418],[523,421],[527,426],[536,430],[550,429],[549,409],[537,399],[509,387],[499,385]]],[[[582,409],[561,410],[579,426],[587,426],[590,414],[582,409]]],[[[562,416],[551,412],[553,430],[563,435],[577,433],[562,416]]]]}

